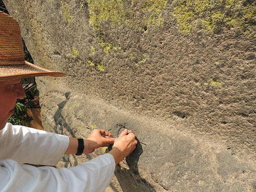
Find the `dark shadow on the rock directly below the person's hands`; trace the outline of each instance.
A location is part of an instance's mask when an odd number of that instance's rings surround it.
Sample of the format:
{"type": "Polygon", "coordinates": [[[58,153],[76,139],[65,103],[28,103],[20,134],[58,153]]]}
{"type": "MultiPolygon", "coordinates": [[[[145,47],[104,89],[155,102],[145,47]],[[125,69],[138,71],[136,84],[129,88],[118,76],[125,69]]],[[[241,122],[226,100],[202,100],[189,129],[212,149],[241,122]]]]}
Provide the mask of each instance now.
{"type": "Polygon", "coordinates": [[[149,182],[139,175],[138,161],[140,155],[143,153],[143,149],[139,139],[136,139],[138,141],[136,149],[126,158],[129,170],[117,165],[115,176],[123,192],[155,192],[155,189],[149,182]]]}

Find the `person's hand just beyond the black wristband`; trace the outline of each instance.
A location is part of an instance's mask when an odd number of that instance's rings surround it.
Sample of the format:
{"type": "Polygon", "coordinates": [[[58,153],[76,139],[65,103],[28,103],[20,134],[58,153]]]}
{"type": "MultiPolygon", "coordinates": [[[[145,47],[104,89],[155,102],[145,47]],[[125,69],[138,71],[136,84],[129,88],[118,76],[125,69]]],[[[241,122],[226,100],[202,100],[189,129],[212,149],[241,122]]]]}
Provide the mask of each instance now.
{"type": "Polygon", "coordinates": [[[84,139],[85,143],[85,154],[92,153],[99,147],[108,147],[113,144],[115,139],[113,135],[104,129],[94,129],[87,139],[84,139]]]}

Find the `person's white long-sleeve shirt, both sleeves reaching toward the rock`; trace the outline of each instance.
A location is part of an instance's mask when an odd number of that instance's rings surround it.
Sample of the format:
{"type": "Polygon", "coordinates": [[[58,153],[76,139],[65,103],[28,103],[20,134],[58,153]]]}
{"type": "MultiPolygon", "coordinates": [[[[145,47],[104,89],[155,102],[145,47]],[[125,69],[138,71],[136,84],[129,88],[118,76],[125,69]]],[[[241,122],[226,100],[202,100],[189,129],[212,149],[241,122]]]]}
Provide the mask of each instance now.
{"type": "Polygon", "coordinates": [[[105,154],[70,168],[56,165],[69,138],[46,131],[13,126],[0,130],[0,192],[102,192],[115,170],[112,155],[105,154]]]}

